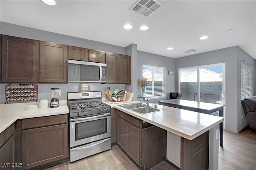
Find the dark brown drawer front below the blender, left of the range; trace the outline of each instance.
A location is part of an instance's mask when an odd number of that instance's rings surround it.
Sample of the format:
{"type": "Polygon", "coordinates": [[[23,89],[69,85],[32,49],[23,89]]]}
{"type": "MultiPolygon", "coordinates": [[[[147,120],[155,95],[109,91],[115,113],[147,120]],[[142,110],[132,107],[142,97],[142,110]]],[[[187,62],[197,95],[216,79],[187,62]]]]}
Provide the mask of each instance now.
{"type": "Polygon", "coordinates": [[[68,115],[55,115],[47,117],[37,117],[22,120],[22,129],[45,127],[50,125],[58,125],[68,123],[68,115]]]}

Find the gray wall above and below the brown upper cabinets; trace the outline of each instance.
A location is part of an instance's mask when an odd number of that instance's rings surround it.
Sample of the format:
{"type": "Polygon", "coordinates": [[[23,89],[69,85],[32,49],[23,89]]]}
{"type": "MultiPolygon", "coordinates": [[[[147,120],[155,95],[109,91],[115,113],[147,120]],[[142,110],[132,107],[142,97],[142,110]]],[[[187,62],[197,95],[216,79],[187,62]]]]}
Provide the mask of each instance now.
{"type": "MultiPolygon", "coordinates": [[[[42,30],[18,26],[14,24],[5,23],[5,22],[0,22],[0,26],[1,26],[0,34],[4,34],[8,36],[16,36],[16,37],[29,38],[29,39],[40,40],[40,41],[62,43],[62,44],[74,45],[78,47],[86,47],[89,49],[97,49],[97,50],[108,51],[113,53],[126,54],[124,47],[120,47],[116,45],[96,42],[92,40],[85,40],[82,38],[56,34],[52,32],[46,32],[42,30]]],[[[100,83],[88,83],[88,84],[90,85],[91,91],[102,91],[102,97],[105,97],[104,91],[106,87],[110,87],[111,89],[120,89],[120,90],[126,88],[125,84],[100,84],[100,83]]],[[[6,84],[0,84],[0,104],[4,103],[5,85],[6,84]]],[[[62,95],[60,97],[60,100],[67,99],[66,97],[67,92],[80,91],[80,83],[38,84],[38,101],[44,98],[50,100],[52,87],[60,87],[60,89],[62,90],[62,95]]]]}

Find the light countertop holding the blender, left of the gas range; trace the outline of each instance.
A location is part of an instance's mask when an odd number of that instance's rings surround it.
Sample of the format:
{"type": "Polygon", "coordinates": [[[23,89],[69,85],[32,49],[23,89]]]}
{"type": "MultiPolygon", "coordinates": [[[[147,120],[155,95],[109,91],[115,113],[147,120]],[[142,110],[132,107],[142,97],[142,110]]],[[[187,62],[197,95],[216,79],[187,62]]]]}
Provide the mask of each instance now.
{"type": "Polygon", "coordinates": [[[54,108],[48,107],[44,109],[38,108],[27,110],[27,106],[31,104],[32,103],[12,103],[0,105],[0,133],[18,119],[61,115],[69,112],[67,105],[60,105],[59,107],[54,108]]]}

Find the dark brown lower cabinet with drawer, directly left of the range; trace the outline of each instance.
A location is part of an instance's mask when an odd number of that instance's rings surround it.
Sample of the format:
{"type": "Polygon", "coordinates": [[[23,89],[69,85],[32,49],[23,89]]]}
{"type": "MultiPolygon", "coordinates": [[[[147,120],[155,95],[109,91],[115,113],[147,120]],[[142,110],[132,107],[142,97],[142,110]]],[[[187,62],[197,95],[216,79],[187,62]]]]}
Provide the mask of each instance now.
{"type": "Polygon", "coordinates": [[[68,125],[67,115],[24,119],[22,127],[34,124],[46,127],[34,127],[22,130],[22,163],[23,169],[46,168],[68,158],[68,125]],[[53,121],[49,125],[49,121],[53,121]],[[66,120],[66,123],[63,123],[66,120]],[[36,123],[38,122],[38,123],[36,123]]]}

